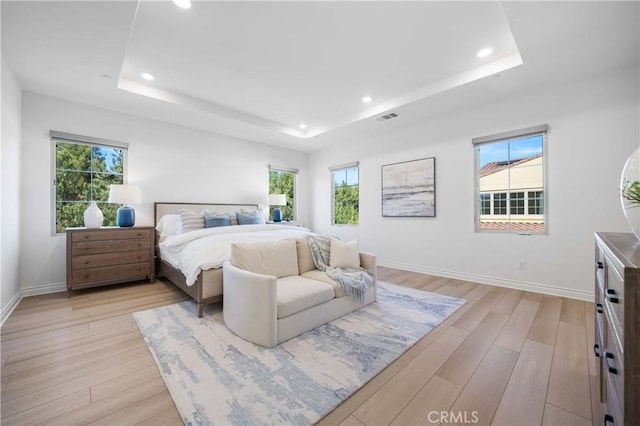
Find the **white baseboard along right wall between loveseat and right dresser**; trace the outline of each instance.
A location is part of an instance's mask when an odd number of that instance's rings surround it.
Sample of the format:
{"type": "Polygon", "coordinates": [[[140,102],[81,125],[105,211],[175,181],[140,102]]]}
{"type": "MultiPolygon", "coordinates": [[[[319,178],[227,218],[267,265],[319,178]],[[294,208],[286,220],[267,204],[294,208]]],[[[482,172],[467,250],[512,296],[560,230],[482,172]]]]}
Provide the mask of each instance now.
{"type": "Polygon", "coordinates": [[[551,296],[568,297],[570,299],[593,302],[595,293],[593,291],[575,290],[564,287],[557,287],[548,284],[538,284],[526,281],[507,280],[504,278],[487,277],[484,275],[468,274],[465,272],[448,271],[445,269],[429,268],[426,266],[410,265],[406,263],[390,262],[386,260],[377,261],[378,266],[400,269],[403,271],[419,272],[422,274],[436,275],[439,277],[453,278],[463,281],[471,281],[480,284],[495,285],[498,287],[513,288],[516,290],[531,291],[534,293],[549,294],[551,296]]]}

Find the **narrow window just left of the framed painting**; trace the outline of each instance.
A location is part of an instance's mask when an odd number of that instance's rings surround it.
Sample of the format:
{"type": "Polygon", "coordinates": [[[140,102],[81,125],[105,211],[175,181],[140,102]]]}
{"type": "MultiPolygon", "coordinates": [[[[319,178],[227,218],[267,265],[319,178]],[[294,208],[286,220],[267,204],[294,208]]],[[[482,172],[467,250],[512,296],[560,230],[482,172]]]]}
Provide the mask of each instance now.
{"type": "Polygon", "coordinates": [[[334,225],[357,225],[360,210],[358,163],[329,168],[333,186],[334,225]]]}

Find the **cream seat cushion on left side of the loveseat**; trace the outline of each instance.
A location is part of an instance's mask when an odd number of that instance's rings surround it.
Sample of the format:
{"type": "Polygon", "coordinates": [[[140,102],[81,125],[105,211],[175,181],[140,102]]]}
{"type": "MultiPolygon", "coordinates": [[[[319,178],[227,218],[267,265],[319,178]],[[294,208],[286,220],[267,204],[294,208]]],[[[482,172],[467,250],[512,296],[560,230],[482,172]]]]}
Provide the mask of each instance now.
{"type": "Polygon", "coordinates": [[[278,318],[285,318],[333,299],[331,285],[301,276],[278,280],[278,318]]]}

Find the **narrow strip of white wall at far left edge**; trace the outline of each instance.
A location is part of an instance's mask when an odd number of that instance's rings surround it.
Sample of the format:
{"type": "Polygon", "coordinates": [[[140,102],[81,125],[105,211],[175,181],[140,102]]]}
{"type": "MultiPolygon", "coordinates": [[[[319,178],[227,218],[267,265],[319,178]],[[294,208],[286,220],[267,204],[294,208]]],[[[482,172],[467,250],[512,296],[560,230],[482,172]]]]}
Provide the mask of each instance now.
{"type": "Polygon", "coordinates": [[[0,145],[0,323],[20,300],[20,139],[22,89],[2,57],[0,145]]]}

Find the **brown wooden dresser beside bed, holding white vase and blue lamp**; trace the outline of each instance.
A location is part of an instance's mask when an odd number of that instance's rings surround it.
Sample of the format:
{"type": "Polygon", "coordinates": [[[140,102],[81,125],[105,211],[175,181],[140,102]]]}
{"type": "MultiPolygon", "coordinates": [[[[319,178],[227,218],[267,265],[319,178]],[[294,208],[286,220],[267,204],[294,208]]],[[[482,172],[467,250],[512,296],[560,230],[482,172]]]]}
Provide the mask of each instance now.
{"type": "Polygon", "coordinates": [[[149,279],[154,281],[151,226],[67,232],[67,296],[72,289],[149,279]]]}

